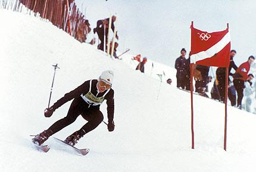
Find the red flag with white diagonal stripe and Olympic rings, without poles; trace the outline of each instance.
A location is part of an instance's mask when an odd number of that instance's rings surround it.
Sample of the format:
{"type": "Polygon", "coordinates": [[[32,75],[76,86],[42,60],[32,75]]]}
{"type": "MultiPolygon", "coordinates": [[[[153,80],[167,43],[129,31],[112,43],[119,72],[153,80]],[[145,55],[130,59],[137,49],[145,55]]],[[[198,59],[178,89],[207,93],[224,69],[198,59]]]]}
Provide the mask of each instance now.
{"type": "Polygon", "coordinates": [[[191,63],[204,66],[229,67],[229,28],[208,33],[191,26],[191,63]]]}

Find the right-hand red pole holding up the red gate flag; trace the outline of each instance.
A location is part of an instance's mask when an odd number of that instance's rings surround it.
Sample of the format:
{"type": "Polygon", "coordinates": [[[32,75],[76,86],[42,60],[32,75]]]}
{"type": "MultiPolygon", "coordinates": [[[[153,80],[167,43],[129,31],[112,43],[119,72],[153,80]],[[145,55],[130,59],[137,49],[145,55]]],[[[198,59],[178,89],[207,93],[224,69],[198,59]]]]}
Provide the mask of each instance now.
{"type": "MultiPolygon", "coordinates": [[[[227,29],[229,29],[229,24],[227,23],[227,29]]],[[[229,60],[230,55],[226,59],[229,60]]],[[[224,126],[224,150],[227,151],[227,85],[229,82],[229,66],[226,65],[226,82],[225,82],[225,126],[224,126]]]]}

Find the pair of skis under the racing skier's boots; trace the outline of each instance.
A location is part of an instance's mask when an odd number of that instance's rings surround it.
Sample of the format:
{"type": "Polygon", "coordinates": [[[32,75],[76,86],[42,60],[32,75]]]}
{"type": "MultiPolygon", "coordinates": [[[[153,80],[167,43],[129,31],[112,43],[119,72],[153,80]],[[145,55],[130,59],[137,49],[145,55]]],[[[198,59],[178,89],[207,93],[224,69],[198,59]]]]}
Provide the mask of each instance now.
{"type": "MultiPolygon", "coordinates": [[[[86,149],[78,149],[74,146],[71,146],[71,145],[68,145],[66,142],[64,141],[61,141],[60,139],[58,138],[54,138],[55,141],[57,142],[60,142],[61,144],[65,145],[65,146],[68,146],[69,148],[73,149],[75,152],[77,152],[79,155],[87,155],[89,153],[89,149],[86,148],[86,149]]],[[[35,144],[35,143],[34,143],[35,144]]],[[[38,144],[35,144],[36,148],[39,150],[39,151],[42,151],[42,152],[48,152],[49,149],[50,149],[50,146],[49,145],[38,145],[38,144]]]]}

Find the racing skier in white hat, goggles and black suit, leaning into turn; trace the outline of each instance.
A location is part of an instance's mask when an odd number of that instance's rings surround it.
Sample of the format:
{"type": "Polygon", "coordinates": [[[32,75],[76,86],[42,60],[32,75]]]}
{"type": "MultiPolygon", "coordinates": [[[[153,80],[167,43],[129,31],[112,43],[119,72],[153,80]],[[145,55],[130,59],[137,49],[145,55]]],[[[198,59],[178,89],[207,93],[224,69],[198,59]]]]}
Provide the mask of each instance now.
{"type": "Polygon", "coordinates": [[[73,123],[81,114],[88,122],[80,130],[77,130],[65,139],[67,144],[74,146],[83,135],[95,129],[102,122],[103,114],[99,110],[99,106],[104,100],[107,100],[108,106],[108,130],[112,132],[115,128],[113,120],[114,90],[111,88],[113,78],[113,71],[104,71],[99,79],[85,81],[82,85],[70,91],[70,93],[65,94],[53,106],[46,108],[45,117],[51,117],[56,109],[74,98],[67,116],[55,122],[49,129],[36,135],[32,141],[38,145],[42,145],[49,136],[73,123]]]}

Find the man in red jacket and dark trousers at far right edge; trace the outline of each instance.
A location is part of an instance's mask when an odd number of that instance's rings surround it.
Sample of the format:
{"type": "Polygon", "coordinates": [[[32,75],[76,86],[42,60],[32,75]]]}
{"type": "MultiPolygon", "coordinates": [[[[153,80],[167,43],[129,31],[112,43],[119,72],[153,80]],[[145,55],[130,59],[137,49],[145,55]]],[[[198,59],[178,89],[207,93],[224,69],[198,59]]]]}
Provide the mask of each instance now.
{"type": "Polygon", "coordinates": [[[236,73],[233,74],[233,83],[236,88],[236,92],[238,93],[237,106],[239,109],[242,109],[243,89],[245,88],[245,81],[248,78],[248,72],[252,63],[254,63],[254,60],[254,56],[249,56],[247,62],[242,63],[236,70],[236,73]]]}

